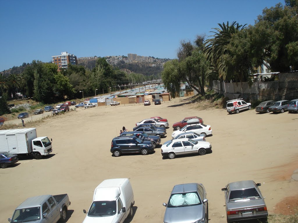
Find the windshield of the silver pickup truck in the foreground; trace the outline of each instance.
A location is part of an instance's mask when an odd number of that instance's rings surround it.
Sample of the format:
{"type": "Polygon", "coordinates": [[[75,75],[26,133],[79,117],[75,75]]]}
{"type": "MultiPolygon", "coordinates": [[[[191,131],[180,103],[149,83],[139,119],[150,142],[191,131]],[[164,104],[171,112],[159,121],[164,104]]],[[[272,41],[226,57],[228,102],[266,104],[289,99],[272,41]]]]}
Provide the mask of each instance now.
{"type": "Polygon", "coordinates": [[[15,210],[11,222],[31,222],[40,220],[40,207],[15,210]]]}

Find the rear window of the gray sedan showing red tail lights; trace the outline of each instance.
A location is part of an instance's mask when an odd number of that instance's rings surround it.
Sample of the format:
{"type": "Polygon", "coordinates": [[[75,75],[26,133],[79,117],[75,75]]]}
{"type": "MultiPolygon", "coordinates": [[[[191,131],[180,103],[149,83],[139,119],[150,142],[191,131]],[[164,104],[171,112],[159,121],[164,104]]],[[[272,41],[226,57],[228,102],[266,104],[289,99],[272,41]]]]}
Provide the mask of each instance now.
{"type": "Polygon", "coordinates": [[[241,202],[261,199],[260,194],[255,188],[233,190],[230,192],[229,202],[241,202]]]}

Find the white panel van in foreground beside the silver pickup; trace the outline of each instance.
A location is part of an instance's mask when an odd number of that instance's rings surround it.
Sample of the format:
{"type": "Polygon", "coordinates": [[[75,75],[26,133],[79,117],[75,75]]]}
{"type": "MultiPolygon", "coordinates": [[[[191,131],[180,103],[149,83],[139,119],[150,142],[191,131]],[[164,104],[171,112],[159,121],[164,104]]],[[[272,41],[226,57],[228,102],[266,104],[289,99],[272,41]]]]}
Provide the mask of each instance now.
{"type": "Polygon", "coordinates": [[[83,223],[122,223],[133,216],[134,192],[127,178],[104,180],[94,190],[83,223]]]}

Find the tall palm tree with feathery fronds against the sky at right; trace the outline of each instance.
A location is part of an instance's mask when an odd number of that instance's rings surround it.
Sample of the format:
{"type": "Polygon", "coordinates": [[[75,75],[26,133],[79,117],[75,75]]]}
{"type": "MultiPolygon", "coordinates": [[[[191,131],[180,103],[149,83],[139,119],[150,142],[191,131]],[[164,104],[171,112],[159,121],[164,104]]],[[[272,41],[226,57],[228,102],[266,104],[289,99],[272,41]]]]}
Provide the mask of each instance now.
{"type": "Polygon", "coordinates": [[[226,79],[226,64],[224,60],[224,56],[227,54],[226,47],[230,43],[232,38],[232,34],[239,32],[245,28],[245,25],[239,25],[235,21],[229,25],[229,21],[227,23],[218,23],[220,28],[213,28],[215,31],[212,31],[214,35],[204,43],[204,53],[207,59],[209,59],[214,66],[215,71],[218,73],[220,78],[226,79]]]}

